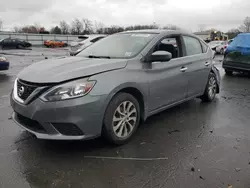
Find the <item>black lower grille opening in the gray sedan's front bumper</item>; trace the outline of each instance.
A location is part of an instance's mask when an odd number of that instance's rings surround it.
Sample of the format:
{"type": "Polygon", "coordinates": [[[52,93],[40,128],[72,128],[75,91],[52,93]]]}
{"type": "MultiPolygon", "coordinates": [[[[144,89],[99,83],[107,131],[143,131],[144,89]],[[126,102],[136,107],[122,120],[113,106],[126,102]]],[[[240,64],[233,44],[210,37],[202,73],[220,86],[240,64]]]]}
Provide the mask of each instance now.
{"type": "Polygon", "coordinates": [[[16,113],[16,120],[27,129],[38,133],[46,133],[46,130],[43,128],[43,126],[35,120],[24,117],[18,113],[16,113]]]}

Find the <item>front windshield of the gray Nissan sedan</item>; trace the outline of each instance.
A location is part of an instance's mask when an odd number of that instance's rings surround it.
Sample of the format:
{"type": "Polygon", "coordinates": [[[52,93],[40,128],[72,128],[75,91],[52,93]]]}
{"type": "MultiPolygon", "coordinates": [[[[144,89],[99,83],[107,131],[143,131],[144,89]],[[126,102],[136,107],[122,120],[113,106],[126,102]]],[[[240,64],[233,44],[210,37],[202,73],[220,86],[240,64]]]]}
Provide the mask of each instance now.
{"type": "Polygon", "coordinates": [[[79,53],[79,56],[131,58],[140,53],[155,36],[152,33],[114,34],[92,44],[79,53]]]}

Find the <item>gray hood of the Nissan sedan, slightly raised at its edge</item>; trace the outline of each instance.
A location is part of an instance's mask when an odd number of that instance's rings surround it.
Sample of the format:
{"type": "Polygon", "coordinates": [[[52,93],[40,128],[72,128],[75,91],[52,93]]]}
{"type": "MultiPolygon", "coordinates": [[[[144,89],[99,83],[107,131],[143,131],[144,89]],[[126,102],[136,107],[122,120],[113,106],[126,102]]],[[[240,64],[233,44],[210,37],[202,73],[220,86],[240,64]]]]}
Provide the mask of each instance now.
{"type": "Polygon", "coordinates": [[[93,59],[61,57],[34,63],[23,69],[17,77],[33,83],[59,83],[124,68],[125,59],[93,59]]]}

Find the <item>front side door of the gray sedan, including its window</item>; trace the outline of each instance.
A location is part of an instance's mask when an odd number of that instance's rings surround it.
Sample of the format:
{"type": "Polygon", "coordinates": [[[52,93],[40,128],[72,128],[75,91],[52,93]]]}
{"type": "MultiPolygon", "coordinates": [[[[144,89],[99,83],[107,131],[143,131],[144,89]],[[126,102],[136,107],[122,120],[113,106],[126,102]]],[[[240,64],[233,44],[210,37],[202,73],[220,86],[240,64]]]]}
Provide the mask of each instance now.
{"type": "Polygon", "coordinates": [[[180,36],[165,37],[154,48],[153,52],[170,52],[172,59],[168,62],[152,62],[147,71],[151,111],[185,100],[188,84],[185,72],[188,63],[182,58],[180,36]]]}

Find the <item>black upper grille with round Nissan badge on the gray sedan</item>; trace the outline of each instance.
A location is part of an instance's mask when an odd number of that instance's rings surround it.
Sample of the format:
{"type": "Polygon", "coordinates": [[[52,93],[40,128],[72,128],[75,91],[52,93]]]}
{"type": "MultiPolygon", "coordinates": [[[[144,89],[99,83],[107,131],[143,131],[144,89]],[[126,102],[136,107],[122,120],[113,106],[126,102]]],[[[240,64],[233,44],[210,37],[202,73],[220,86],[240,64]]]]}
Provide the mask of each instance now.
{"type": "Polygon", "coordinates": [[[28,85],[17,80],[17,95],[24,101],[31,95],[31,93],[33,93],[33,91],[35,91],[36,88],[37,86],[28,85]]]}

